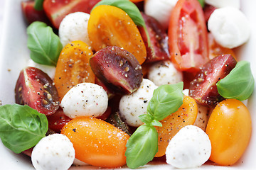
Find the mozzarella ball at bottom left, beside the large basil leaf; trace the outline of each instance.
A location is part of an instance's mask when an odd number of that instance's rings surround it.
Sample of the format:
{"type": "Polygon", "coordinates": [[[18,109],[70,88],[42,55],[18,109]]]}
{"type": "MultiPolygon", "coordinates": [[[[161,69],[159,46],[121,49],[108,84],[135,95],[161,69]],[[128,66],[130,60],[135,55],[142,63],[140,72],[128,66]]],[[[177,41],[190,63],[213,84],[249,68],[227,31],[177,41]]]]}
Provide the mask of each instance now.
{"type": "Polygon", "coordinates": [[[68,137],[56,133],[38,142],[33,148],[31,159],[36,170],[65,170],[73,164],[75,149],[68,137]]]}

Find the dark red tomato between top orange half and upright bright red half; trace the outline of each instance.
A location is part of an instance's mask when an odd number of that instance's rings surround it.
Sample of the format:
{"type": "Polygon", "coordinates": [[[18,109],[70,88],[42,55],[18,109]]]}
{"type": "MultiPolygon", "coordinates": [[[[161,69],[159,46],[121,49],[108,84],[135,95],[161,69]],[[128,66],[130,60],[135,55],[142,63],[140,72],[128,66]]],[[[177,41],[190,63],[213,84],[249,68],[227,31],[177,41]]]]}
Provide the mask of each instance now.
{"type": "Polygon", "coordinates": [[[147,16],[142,13],[142,17],[146,23],[146,30],[149,33],[149,39],[151,46],[148,45],[146,32],[144,28],[139,27],[139,32],[142,35],[142,39],[146,46],[146,62],[156,62],[159,60],[168,60],[169,47],[168,47],[168,36],[166,35],[160,24],[151,16],[147,16]]]}

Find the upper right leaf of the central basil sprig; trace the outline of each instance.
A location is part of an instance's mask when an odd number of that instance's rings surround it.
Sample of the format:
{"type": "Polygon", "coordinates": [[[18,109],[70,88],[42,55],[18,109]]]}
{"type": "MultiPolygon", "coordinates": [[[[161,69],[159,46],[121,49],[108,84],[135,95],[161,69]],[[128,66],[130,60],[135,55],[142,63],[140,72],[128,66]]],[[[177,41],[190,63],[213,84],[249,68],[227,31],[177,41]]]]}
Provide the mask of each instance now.
{"type": "Polygon", "coordinates": [[[178,84],[166,84],[154,90],[153,97],[149,101],[147,113],[155,120],[163,120],[171,113],[178,111],[183,103],[183,82],[178,84]]]}

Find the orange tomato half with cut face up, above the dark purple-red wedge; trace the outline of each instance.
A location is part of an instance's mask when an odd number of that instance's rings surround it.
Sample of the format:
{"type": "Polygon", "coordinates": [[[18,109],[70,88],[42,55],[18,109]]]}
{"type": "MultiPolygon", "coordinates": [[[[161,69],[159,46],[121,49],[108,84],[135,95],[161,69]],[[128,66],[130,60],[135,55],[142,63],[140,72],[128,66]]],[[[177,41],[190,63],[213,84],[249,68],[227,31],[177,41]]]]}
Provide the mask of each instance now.
{"type": "Polygon", "coordinates": [[[139,30],[122,9],[100,5],[92,10],[88,22],[88,35],[96,51],[107,46],[123,47],[137,58],[146,60],[146,47],[139,30]]]}

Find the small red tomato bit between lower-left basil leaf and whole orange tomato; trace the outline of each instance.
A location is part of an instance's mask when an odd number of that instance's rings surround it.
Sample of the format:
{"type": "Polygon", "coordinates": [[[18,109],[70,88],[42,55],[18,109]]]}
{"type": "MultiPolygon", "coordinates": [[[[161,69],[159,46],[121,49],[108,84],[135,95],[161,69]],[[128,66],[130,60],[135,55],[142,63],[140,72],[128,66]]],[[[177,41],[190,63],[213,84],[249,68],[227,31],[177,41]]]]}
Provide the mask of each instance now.
{"type": "Polygon", "coordinates": [[[71,120],[64,114],[62,108],[58,108],[58,110],[53,115],[49,115],[47,119],[49,129],[55,132],[60,132],[63,126],[71,120]]]}

